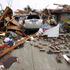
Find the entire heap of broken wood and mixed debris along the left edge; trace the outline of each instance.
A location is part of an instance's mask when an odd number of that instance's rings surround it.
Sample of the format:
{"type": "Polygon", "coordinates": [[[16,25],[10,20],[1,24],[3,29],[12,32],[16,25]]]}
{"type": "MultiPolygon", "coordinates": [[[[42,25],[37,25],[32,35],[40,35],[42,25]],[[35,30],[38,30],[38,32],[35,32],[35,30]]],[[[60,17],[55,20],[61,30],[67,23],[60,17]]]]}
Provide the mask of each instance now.
{"type": "Polygon", "coordinates": [[[10,52],[28,39],[22,31],[22,25],[15,20],[13,11],[6,7],[0,16],[0,70],[7,69],[18,61],[18,57],[12,56],[10,52]]]}

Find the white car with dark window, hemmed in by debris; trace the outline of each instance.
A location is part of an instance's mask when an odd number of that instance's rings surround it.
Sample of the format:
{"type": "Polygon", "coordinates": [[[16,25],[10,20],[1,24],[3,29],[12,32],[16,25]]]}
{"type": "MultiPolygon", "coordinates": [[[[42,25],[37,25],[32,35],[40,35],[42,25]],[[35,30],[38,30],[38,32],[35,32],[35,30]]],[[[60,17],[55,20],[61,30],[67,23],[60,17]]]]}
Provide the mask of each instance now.
{"type": "Polygon", "coordinates": [[[25,20],[25,29],[39,29],[42,25],[42,19],[38,15],[28,15],[25,20]]]}

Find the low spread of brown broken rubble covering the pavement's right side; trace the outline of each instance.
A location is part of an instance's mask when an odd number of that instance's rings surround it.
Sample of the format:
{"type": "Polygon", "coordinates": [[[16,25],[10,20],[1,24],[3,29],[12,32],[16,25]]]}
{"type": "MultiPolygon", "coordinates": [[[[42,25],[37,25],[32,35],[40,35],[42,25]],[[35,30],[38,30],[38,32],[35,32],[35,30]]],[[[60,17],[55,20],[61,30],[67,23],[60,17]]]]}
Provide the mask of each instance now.
{"type": "Polygon", "coordinates": [[[39,48],[41,52],[56,55],[55,59],[62,62],[63,59],[70,64],[70,35],[62,34],[58,38],[37,37],[31,43],[34,47],[39,48]],[[42,42],[42,40],[44,40],[42,42]]]}

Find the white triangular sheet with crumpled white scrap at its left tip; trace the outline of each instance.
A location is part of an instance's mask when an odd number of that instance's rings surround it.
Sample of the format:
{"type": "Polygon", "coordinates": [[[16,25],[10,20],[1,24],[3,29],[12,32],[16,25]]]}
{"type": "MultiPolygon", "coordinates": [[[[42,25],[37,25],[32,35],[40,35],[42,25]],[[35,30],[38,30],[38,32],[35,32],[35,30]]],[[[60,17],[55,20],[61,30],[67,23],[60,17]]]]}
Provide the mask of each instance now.
{"type": "Polygon", "coordinates": [[[60,25],[58,24],[57,26],[51,27],[45,31],[43,31],[43,28],[40,28],[36,35],[42,35],[42,36],[47,35],[48,37],[59,37],[59,27],[60,25]]]}

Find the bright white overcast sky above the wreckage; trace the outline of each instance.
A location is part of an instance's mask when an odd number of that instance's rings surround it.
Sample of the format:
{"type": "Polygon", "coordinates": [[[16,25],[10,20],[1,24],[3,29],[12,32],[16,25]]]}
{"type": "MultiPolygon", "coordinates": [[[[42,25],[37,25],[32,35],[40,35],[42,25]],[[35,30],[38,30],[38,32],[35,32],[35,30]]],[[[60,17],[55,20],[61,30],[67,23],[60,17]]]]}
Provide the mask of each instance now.
{"type": "Polygon", "coordinates": [[[70,0],[0,0],[3,9],[9,5],[13,10],[23,9],[27,5],[33,9],[39,10],[46,7],[56,8],[56,6],[53,6],[54,3],[70,5],[70,0]]]}

